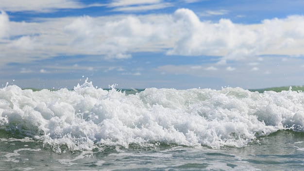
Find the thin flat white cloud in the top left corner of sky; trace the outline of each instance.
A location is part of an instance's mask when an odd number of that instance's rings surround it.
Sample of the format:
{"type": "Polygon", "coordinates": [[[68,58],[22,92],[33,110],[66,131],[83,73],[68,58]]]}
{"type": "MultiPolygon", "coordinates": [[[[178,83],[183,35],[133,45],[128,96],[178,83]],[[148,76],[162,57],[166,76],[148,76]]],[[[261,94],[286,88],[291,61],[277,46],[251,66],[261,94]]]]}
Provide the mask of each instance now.
{"type": "Polygon", "coordinates": [[[0,0],[0,7],[4,11],[36,11],[42,13],[53,12],[56,9],[78,9],[104,4],[85,5],[77,0],[0,0]]]}

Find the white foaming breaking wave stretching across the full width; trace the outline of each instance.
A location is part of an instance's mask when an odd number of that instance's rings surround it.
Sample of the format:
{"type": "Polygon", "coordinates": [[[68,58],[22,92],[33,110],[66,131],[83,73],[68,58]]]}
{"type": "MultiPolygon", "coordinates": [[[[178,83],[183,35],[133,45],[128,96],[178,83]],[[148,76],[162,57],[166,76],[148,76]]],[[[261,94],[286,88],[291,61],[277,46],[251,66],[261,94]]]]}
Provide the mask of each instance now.
{"type": "Polygon", "coordinates": [[[147,88],[126,95],[85,81],[74,90],[0,89],[0,129],[52,147],[243,147],[278,130],[304,132],[304,93],[147,88]]]}

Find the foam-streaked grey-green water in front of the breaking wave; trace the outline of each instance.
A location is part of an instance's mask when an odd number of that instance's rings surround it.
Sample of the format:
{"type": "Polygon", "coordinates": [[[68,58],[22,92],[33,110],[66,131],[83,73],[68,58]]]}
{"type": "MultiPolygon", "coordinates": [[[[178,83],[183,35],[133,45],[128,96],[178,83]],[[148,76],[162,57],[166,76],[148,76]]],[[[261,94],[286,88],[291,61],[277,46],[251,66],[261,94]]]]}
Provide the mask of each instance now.
{"type": "Polygon", "coordinates": [[[0,131],[0,170],[116,171],[300,171],[304,168],[304,133],[278,131],[246,147],[186,147],[161,144],[100,147],[93,151],[55,153],[40,141],[16,139],[0,131]]]}

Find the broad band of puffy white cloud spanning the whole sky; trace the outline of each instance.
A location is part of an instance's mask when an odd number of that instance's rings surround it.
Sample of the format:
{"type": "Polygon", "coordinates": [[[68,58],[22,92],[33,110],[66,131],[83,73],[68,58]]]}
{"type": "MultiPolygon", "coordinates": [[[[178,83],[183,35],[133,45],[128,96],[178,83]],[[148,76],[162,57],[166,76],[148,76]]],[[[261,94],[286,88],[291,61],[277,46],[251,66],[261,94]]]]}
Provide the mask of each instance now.
{"type": "Polygon", "coordinates": [[[264,54],[303,55],[303,23],[303,16],[265,19],[247,25],[229,19],[202,21],[185,8],[171,15],[82,16],[13,22],[2,11],[0,41],[4,46],[0,51],[2,55],[14,56],[4,63],[16,62],[18,57],[20,62],[31,60],[33,55],[49,58],[59,54],[86,54],[121,59],[131,58],[133,52],[158,51],[167,55],[222,56],[224,64],[227,60],[264,54]]]}

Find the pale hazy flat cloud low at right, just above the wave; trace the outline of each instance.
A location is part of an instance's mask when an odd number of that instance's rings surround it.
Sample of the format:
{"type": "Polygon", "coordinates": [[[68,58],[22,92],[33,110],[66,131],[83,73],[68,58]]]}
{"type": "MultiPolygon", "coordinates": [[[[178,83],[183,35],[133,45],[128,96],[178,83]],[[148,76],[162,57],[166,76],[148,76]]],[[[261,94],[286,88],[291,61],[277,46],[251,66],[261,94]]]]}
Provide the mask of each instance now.
{"type": "MultiPolygon", "coordinates": [[[[202,63],[201,69],[188,69],[189,65],[165,65],[158,67],[157,71],[165,74],[191,75],[202,78],[202,80],[204,78],[214,78],[214,80],[217,80],[215,85],[212,85],[214,88],[217,88],[216,85],[241,86],[244,88],[265,88],[284,84],[302,85],[303,59],[289,57],[287,61],[283,62],[282,58],[284,57],[263,56],[263,62],[258,67],[247,65],[248,62],[258,61],[257,57],[253,57],[234,62],[233,66],[230,66],[231,68],[217,65],[218,71],[205,70],[210,65],[208,63],[202,63]],[[282,80],[284,83],[282,83],[282,80]]],[[[207,87],[210,87],[210,85],[207,87]]]]}

